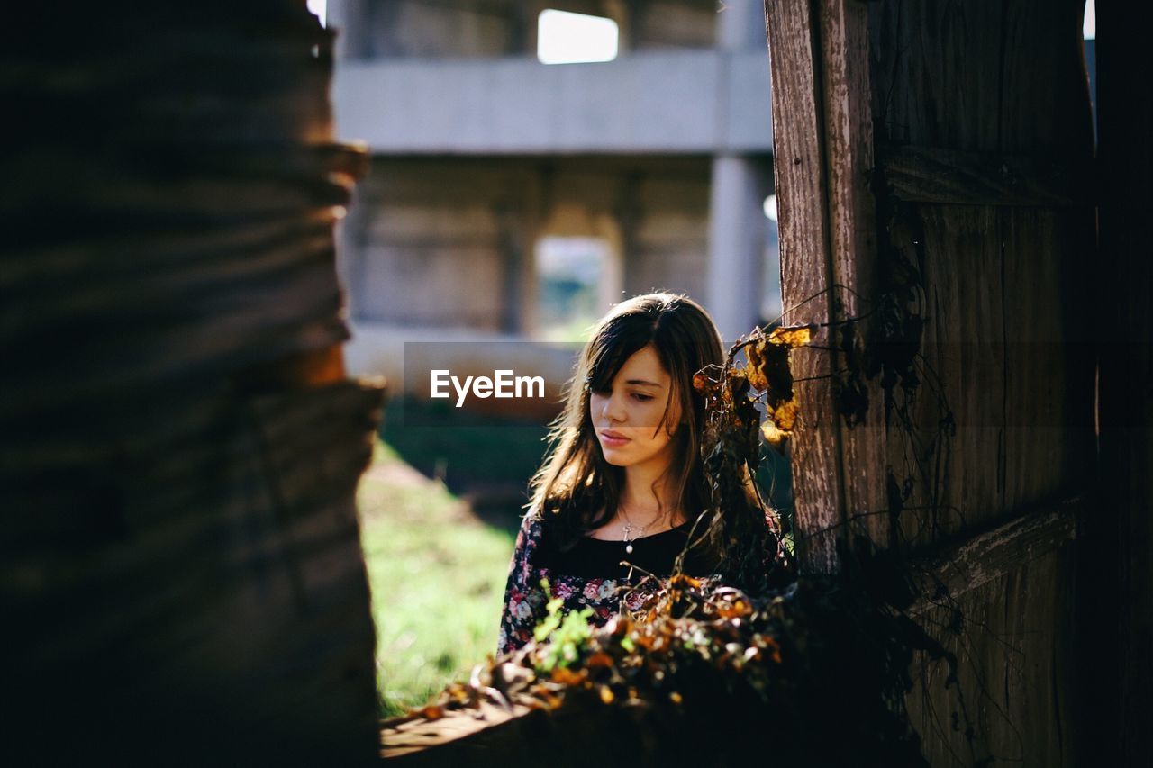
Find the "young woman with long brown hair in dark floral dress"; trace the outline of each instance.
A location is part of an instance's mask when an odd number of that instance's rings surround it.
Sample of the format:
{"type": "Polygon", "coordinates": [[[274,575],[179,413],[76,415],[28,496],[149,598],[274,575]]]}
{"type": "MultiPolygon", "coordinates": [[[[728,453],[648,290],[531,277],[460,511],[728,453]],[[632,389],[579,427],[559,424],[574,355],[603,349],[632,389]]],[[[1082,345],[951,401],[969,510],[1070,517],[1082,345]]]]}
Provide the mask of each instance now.
{"type": "MultiPolygon", "coordinates": [[[[723,573],[734,545],[774,518],[747,475],[743,509],[713,509],[700,455],[704,402],[693,376],[724,362],[716,326],[686,296],[654,293],[613,307],[585,346],[552,450],[533,479],[512,557],[499,650],[533,639],[552,597],[603,625],[635,608],[651,577],[723,573]],[[624,564],[623,564],[624,562],[624,564]],[[541,586],[548,580],[550,594],[541,586]]],[[[706,371],[709,372],[709,371],[706,371]]],[[[775,540],[774,540],[775,541],[775,540]]]]}

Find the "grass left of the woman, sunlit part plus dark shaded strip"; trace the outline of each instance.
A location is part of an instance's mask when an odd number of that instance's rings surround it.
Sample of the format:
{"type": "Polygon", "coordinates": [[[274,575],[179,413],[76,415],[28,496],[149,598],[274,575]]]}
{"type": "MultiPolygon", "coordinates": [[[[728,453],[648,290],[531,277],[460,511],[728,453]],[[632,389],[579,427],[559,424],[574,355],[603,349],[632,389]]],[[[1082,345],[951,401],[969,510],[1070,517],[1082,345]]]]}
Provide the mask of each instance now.
{"type": "Polygon", "coordinates": [[[424,703],[496,652],[508,558],[547,431],[541,420],[419,400],[385,408],[359,491],[384,716],[424,703]]]}

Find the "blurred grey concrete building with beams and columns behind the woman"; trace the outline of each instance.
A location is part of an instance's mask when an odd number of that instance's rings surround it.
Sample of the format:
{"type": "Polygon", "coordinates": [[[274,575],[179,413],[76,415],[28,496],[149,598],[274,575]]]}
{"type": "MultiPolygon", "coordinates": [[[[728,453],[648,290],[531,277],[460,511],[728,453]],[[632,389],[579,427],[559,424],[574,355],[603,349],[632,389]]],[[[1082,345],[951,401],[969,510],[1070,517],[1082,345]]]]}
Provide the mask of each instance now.
{"type": "Polygon", "coordinates": [[[779,314],[758,0],[330,0],[327,23],[338,134],[374,156],[341,233],[354,369],[654,288],[726,339],[779,314]],[[616,58],[542,63],[555,10],[615,22],[616,58]]]}

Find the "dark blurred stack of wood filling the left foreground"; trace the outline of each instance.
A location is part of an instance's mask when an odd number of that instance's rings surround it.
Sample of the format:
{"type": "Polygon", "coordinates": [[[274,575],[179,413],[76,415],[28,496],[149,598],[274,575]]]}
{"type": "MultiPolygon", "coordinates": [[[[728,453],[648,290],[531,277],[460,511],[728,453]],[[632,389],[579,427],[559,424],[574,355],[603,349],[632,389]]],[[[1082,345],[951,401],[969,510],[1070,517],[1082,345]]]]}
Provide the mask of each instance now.
{"type": "Polygon", "coordinates": [[[0,63],[7,765],[376,759],[303,0],[22,3],[0,63]]]}

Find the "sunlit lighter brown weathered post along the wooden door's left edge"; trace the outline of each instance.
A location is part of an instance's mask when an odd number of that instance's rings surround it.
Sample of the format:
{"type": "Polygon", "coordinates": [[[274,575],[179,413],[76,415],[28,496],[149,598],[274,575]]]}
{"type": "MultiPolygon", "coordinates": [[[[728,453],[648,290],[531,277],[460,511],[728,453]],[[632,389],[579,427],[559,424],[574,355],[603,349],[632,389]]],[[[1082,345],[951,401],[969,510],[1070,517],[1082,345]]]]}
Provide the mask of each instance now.
{"type": "MultiPolygon", "coordinates": [[[[767,0],[775,120],[774,167],[781,227],[782,303],[786,324],[823,326],[831,347],[847,318],[868,313],[876,270],[874,201],[869,189],[873,130],[865,6],[830,0],[767,0]],[[783,112],[781,112],[783,111],[783,112]]],[[[860,324],[867,332],[867,321],[860,324]]],[[[881,397],[869,385],[872,412],[852,428],[837,417],[835,351],[794,354],[801,404],[793,442],[793,489],[800,564],[838,570],[836,541],[845,524],[889,544],[886,438],[881,397]]]]}

